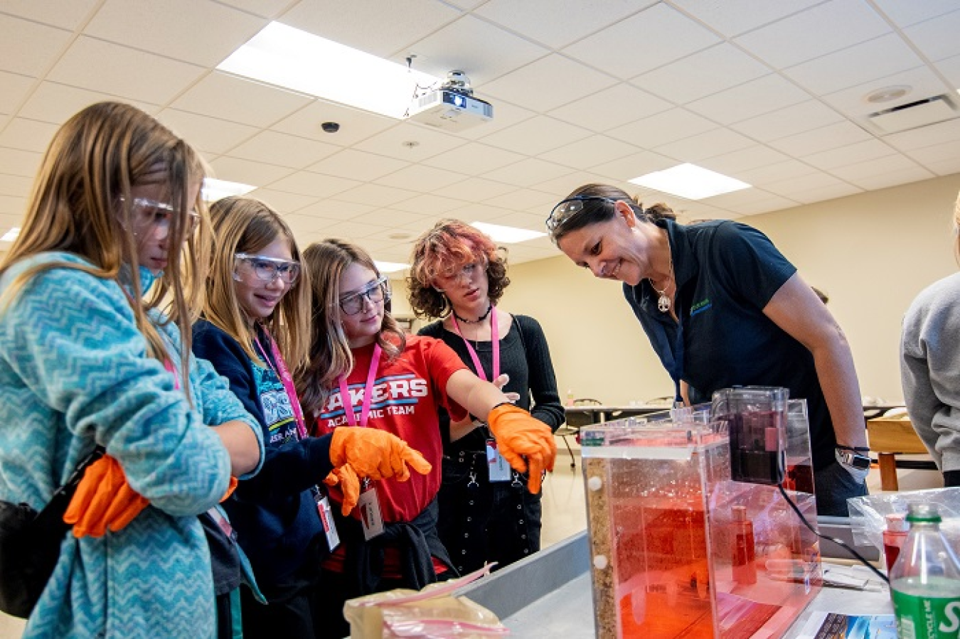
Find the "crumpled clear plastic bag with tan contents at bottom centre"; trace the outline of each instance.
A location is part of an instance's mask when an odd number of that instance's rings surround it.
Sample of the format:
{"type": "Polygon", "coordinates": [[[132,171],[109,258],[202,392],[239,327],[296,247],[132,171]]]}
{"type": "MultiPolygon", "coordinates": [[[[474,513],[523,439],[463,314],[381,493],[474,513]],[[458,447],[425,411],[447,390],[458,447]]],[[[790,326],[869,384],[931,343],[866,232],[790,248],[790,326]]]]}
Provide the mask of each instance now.
{"type": "Polygon", "coordinates": [[[510,630],[487,608],[454,597],[490,566],[459,580],[431,583],[420,591],[396,589],[351,599],[344,606],[351,639],[486,639],[510,630]]]}

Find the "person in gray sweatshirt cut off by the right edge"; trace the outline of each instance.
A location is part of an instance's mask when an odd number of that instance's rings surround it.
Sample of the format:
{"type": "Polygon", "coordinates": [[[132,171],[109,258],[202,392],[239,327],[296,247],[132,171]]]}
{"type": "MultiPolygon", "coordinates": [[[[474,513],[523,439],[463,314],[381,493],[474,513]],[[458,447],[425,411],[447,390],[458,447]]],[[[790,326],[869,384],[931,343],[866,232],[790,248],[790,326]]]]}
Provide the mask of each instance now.
{"type": "MultiPolygon", "coordinates": [[[[960,197],[953,208],[960,259],[960,197]]],[[[960,486],[960,272],[934,282],[907,309],[900,336],[900,382],[917,435],[944,475],[960,486]]]]}

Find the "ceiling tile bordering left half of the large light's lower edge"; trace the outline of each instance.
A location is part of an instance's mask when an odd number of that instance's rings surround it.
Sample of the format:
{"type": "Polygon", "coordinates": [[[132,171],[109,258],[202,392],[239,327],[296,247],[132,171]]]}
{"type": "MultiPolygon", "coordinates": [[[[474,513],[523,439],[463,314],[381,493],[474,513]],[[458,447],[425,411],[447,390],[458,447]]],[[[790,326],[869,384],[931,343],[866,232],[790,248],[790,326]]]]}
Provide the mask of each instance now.
{"type": "Polygon", "coordinates": [[[183,93],[174,108],[215,113],[231,122],[269,127],[312,102],[308,96],[214,71],[183,93]]]}

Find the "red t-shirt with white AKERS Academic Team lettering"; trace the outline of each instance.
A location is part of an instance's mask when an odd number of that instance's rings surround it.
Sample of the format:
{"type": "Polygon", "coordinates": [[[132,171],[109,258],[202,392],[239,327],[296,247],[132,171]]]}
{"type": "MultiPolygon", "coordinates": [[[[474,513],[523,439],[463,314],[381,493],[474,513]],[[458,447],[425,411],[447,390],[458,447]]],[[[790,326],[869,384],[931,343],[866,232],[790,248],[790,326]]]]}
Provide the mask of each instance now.
{"type": "MultiPolygon", "coordinates": [[[[358,421],[372,354],[372,344],[354,349],[353,370],[347,378],[358,421]]],[[[381,355],[373,381],[367,426],[393,433],[433,464],[433,469],[426,475],[412,471],[406,482],[387,479],[373,483],[384,522],[412,521],[440,490],[444,446],[437,408],[443,406],[454,421],[467,416],[467,411],[446,396],[450,375],[465,368],[467,366],[452,348],[427,337],[407,336],[406,348],[393,362],[387,359],[386,353],[381,355]]],[[[317,415],[317,429],[324,435],[344,426],[349,427],[347,414],[340,390],[335,388],[317,415]]],[[[343,493],[338,486],[332,486],[329,493],[337,504],[343,502],[343,493]]],[[[357,509],[354,509],[353,516],[359,518],[357,509]]]]}

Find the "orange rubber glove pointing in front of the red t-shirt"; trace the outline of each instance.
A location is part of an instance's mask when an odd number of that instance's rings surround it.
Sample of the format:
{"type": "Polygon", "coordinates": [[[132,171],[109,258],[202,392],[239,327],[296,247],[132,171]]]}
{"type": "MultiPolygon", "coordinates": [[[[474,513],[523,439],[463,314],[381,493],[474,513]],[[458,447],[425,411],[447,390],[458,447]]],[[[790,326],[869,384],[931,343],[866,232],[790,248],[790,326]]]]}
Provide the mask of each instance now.
{"type": "Polygon", "coordinates": [[[334,468],[350,464],[359,477],[372,480],[396,477],[400,482],[410,479],[407,465],[420,475],[426,475],[433,468],[419,452],[396,435],[375,428],[350,426],[334,429],[330,462],[334,468]]]}

